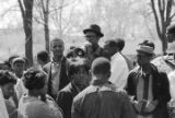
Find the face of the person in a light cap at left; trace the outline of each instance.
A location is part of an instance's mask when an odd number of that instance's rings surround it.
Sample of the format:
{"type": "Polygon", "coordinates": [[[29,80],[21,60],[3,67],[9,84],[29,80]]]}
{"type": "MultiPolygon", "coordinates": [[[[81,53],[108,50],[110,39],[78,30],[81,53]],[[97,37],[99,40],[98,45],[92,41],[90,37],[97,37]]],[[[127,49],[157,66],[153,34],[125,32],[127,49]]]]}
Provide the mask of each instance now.
{"type": "Polygon", "coordinates": [[[12,70],[15,74],[23,74],[24,69],[25,69],[24,62],[14,62],[12,66],[12,70]]]}

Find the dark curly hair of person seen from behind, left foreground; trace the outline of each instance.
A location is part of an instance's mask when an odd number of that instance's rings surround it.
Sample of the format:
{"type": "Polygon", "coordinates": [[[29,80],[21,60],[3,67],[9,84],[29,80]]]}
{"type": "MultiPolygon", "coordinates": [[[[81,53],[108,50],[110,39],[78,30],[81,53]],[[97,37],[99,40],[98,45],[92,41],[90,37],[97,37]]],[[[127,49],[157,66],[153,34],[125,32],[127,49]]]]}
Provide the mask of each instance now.
{"type": "Polygon", "coordinates": [[[47,74],[36,68],[30,68],[26,70],[23,76],[24,86],[27,90],[39,90],[46,84],[47,74]]]}

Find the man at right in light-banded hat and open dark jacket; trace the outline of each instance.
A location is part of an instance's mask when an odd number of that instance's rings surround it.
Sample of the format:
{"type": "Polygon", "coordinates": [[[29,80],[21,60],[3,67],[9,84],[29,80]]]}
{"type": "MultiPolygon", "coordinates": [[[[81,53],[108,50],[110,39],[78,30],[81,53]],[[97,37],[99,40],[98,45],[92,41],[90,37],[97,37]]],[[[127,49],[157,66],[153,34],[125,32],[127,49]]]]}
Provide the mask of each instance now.
{"type": "Polygon", "coordinates": [[[138,67],[128,76],[126,86],[137,118],[168,118],[170,83],[166,73],[158,71],[150,61],[154,55],[152,43],[143,42],[137,49],[138,67]]]}

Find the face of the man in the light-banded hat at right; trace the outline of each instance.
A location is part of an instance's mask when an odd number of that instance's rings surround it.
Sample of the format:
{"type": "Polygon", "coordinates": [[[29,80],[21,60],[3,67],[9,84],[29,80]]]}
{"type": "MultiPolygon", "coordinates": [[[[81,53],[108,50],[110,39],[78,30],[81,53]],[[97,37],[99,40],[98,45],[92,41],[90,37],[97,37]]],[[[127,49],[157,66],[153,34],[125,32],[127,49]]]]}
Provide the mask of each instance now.
{"type": "Polygon", "coordinates": [[[137,51],[137,62],[140,67],[150,62],[150,57],[145,52],[137,51]]]}

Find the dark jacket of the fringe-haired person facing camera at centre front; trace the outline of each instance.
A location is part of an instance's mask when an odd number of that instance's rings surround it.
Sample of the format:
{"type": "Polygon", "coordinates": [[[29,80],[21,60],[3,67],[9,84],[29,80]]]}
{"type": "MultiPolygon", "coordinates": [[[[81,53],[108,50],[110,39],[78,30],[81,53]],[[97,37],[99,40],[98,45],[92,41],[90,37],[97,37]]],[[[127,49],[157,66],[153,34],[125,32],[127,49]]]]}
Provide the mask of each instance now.
{"type": "Polygon", "coordinates": [[[69,83],[57,96],[57,104],[63,111],[63,118],[71,118],[71,107],[73,97],[78,94],[75,86],[69,83]]]}

